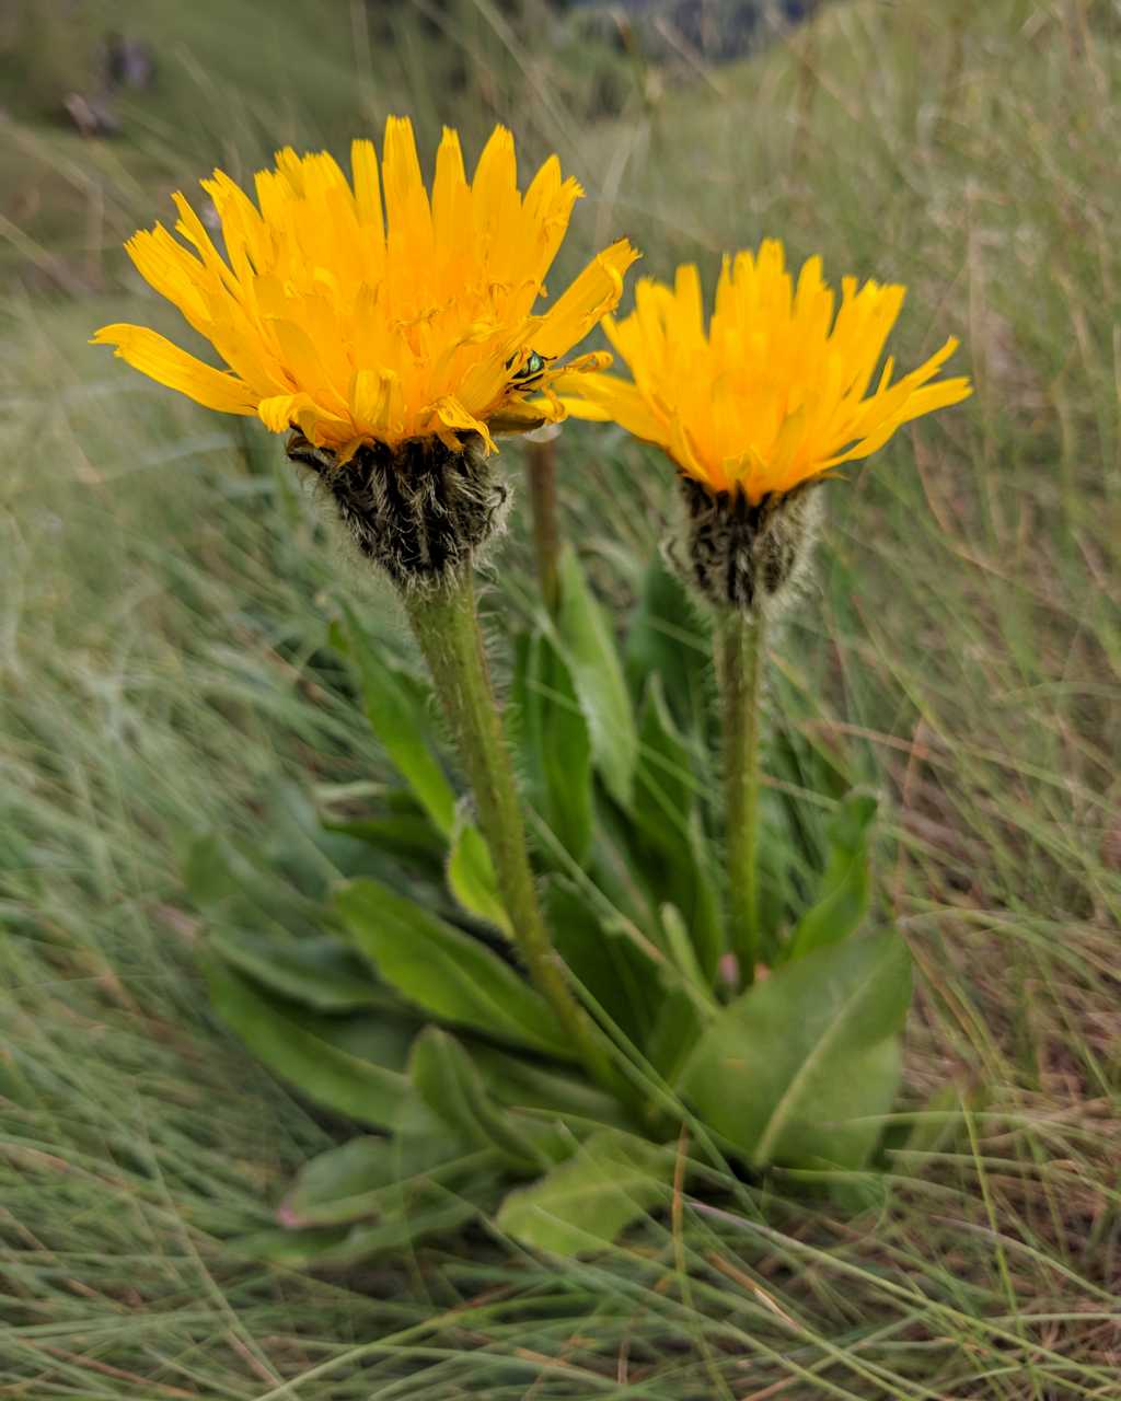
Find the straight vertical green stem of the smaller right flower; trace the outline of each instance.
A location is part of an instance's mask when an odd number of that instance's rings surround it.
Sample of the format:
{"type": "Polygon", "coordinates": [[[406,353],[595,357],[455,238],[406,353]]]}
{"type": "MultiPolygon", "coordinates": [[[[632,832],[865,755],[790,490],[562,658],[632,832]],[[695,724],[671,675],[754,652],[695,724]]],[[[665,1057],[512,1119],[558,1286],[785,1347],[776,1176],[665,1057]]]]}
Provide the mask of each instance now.
{"type": "Polygon", "coordinates": [[[724,736],[731,947],[740,981],[755,981],[759,961],[759,699],[762,695],[764,616],[729,609],[716,623],[724,736]]]}

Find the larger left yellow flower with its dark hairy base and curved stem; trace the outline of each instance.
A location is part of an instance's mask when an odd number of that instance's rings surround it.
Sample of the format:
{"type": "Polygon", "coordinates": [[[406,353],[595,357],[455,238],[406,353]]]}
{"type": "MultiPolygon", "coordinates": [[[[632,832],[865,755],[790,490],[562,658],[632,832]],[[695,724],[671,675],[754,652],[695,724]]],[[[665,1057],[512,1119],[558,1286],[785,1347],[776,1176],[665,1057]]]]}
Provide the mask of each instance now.
{"type": "MultiPolygon", "coordinates": [[[[499,126],[468,181],[444,130],[432,191],[412,125],[390,118],[381,163],[357,140],[350,178],[325,154],[283,150],[256,202],[221,171],[203,181],[220,249],[182,195],[128,251],[210,342],[223,367],[147,326],[94,336],[130,366],[224,413],[291,430],[359,548],[398,586],[475,793],[499,892],[525,962],[601,1082],[604,1052],[555,958],[530,870],[502,719],[479,636],[472,562],[506,489],[495,434],[556,420],[560,359],[614,310],[638,254],[621,238],[559,296],[545,276],[580,186],[551,156],[523,193],[499,126]]],[[[565,366],[568,378],[610,356],[565,366]]]]}

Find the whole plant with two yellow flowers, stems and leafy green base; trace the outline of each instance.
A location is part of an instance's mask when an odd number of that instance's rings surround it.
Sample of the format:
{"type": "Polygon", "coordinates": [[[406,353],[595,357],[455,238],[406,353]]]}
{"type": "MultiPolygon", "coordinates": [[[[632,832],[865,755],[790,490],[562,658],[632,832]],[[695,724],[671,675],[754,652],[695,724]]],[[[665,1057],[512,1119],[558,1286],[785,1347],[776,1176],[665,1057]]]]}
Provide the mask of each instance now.
{"type": "Polygon", "coordinates": [[[773,240],[724,261],[708,325],[692,266],[645,279],[612,319],[625,238],[537,310],[582,191],[551,157],[523,193],[503,127],[471,181],[446,130],[430,191],[398,118],[380,164],[353,144],[349,179],[283,150],[256,202],[221,171],[203,185],[221,251],[182,195],[181,241],[157,224],[128,248],[224,368],[146,326],[95,342],[287,434],[427,672],[343,607],[335,646],[399,785],[326,824],[284,790],[259,849],[210,834],[188,860],[219,1016],[371,1131],[305,1167],[255,1248],[346,1262],[482,1215],[582,1252],[688,1171],[851,1191],[898,1091],[909,958],[894,930],[862,929],[874,800],[799,734],[782,678],[786,724],[764,736],[766,633],[820,483],[968,395],[937,378],[954,342],[877,377],[904,289],[845,279],[838,305],[820,259],[795,284],[773,240]],[[566,359],[600,322],[631,381],[605,352],[566,359]],[[538,520],[546,607],[510,639],[503,713],[474,586],[507,506],[495,440],[569,412],[671,464],[677,573],[652,566],[619,647],[538,520]],[[786,779],[769,792],[765,744],[786,779]]]}

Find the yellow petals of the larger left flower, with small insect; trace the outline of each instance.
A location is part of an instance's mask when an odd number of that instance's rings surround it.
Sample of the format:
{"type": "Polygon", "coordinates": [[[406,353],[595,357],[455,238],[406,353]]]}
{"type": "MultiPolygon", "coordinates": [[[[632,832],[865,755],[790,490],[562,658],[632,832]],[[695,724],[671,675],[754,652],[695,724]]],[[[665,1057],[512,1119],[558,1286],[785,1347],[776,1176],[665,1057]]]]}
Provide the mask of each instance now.
{"type": "Polygon", "coordinates": [[[331,156],[279,151],[256,175],[256,203],[214,171],[202,186],[226,256],[182,195],[175,233],[189,247],[160,224],[126,244],[228,370],[146,326],[102,326],[94,343],[207,408],[258,415],[275,432],[296,426],[341,462],[364,443],[418,437],[454,447],[478,433],[493,448],[492,432],[563,416],[555,361],[615,307],[638,254],[621,240],[534,311],[583,193],[556,157],[523,196],[504,127],[471,182],[457,133],[444,130],[429,198],[412,125],[390,118],[380,178],[371,142],[353,143],[350,168],[348,181],[331,156]]]}

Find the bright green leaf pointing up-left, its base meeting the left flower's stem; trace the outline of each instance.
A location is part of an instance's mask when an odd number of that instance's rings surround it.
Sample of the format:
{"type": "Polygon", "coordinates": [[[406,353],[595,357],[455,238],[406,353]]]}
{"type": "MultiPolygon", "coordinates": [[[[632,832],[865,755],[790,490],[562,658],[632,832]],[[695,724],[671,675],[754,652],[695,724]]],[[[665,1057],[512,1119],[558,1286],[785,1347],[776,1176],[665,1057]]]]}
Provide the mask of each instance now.
{"type": "Polygon", "coordinates": [[[402,998],[455,1026],[572,1059],[552,1007],[486,944],[374,880],[335,895],[355,944],[402,998]]]}

